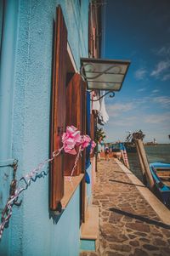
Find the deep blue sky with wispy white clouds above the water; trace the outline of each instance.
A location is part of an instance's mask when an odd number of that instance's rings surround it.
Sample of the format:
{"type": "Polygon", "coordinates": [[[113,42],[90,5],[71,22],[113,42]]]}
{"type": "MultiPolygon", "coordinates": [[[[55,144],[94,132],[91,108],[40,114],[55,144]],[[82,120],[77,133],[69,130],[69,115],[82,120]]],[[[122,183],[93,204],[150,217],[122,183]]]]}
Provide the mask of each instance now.
{"type": "Polygon", "coordinates": [[[141,129],[170,143],[170,0],[106,0],[102,58],[131,60],[122,90],[105,96],[106,141],[141,129]]]}

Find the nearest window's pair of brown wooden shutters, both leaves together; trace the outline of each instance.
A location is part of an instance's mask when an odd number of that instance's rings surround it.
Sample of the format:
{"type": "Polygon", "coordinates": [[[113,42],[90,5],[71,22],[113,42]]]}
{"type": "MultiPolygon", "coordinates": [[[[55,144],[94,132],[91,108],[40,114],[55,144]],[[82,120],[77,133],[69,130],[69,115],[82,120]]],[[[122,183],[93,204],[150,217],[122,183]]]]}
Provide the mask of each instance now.
{"type": "MultiPolygon", "coordinates": [[[[73,58],[73,57],[72,57],[73,58]]],[[[54,71],[51,104],[51,156],[62,146],[66,126],[74,125],[86,134],[86,83],[76,73],[67,43],[67,29],[60,7],[54,29],[54,71]]],[[[60,208],[64,196],[65,175],[71,175],[76,156],[62,152],[50,167],[50,209],[60,208]]],[[[74,175],[85,172],[85,152],[78,161],[74,175]]]]}

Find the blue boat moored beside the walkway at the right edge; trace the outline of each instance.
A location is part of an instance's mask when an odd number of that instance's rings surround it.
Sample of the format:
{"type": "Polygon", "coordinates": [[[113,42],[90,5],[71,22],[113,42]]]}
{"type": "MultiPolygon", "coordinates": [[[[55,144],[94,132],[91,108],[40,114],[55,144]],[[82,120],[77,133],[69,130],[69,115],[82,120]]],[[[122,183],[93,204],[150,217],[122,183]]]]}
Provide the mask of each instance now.
{"type": "Polygon", "coordinates": [[[170,163],[152,162],[150,172],[155,182],[156,196],[170,208],[170,163]]]}

